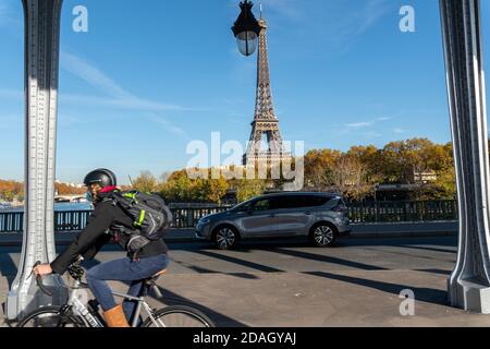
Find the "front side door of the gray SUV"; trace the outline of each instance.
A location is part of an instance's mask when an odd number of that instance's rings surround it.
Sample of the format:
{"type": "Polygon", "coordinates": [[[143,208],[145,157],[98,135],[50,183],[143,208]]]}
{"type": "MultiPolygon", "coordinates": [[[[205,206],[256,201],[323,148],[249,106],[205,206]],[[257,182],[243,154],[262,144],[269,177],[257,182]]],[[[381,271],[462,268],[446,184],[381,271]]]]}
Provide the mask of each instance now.
{"type": "Polygon", "coordinates": [[[243,234],[250,238],[273,234],[275,229],[274,214],[271,198],[258,200],[241,219],[243,234]]]}

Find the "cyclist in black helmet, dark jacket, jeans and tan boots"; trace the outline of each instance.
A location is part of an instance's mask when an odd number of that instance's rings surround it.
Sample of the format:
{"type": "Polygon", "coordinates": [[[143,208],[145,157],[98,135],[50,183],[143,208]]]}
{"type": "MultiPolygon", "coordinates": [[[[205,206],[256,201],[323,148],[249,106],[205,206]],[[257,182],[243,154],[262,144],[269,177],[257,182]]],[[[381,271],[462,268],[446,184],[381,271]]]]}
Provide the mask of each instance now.
{"type": "MultiPolygon", "coordinates": [[[[125,249],[128,237],[111,231],[113,225],[133,225],[128,215],[110,198],[111,193],[119,190],[115,174],[107,169],[97,169],[85,177],[84,183],[95,206],[87,227],[51,264],[37,266],[34,269],[36,275],[63,275],[79,256],[94,258],[111,239],[125,249]]],[[[137,256],[128,253],[125,258],[105,262],[88,270],[87,284],[102,308],[109,327],[130,327],[127,318],[132,318],[135,303],[124,301],[118,304],[107,281],[131,281],[128,294],[137,297],[143,280],[162,272],[168,264],[167,245],[163,240],[158,240],[146,244],[137,256]]]]}

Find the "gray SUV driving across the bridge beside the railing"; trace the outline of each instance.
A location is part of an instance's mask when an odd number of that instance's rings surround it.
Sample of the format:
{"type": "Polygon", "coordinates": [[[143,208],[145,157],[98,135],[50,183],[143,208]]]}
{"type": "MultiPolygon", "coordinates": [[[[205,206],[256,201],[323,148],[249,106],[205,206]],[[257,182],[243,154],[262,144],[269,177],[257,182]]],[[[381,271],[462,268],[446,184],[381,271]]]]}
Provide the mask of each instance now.
{"type": "Polygon", "coordinates": [[[350,232],[342,196],[280,193],[255,197],[230,210],[203,217],[195,236],[228,250],[242,239],[292,236],[307,236],[315,245],[324,248],[350,232]]]}

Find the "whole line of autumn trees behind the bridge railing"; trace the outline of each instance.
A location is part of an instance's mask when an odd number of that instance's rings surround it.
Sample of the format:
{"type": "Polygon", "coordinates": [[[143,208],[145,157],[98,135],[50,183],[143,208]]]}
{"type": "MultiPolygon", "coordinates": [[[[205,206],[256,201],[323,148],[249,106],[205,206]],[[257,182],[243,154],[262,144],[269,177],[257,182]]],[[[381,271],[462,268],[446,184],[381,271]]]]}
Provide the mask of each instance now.
{"type": "MultiPolygon", "coordinates": [[[[490,142],[489,142],[490,153],[490,142]]],[[[313,149],[305,158],[305,189],[338,192],[352,200],[372,197],[376,184],[417,184],[416,198],[454,198],[456,179],[452,143],[434,144],[427,139],[390,142],[383,148],[353,146],[347,152],[313,149]],[[434,180],[422,183],[416,173],[432,173],[434,180]]],[[[211,178],[211,169],[204,169],[211,178]]],[[[257,173],[256,173],[257,174],[257,173]]],[[[206,177],[206,176],[205,176],[206,177]]],[[[285,179],[225,180],[189,178],[186,170],[163,173],[158,180],[143,171],[134,181],[142,192],[158,192],[171,202],[209,202],[220,204],[228,191],[235,191],[240,202],[280,189],[285,179]]],[[[270,170],[267,178],[271,178],[270,170]]],[[[58,185],[69,193],[68,185],[58,185]]],[[[0,180],[0,200],[23,197],[24,184],[0,180]]]]}

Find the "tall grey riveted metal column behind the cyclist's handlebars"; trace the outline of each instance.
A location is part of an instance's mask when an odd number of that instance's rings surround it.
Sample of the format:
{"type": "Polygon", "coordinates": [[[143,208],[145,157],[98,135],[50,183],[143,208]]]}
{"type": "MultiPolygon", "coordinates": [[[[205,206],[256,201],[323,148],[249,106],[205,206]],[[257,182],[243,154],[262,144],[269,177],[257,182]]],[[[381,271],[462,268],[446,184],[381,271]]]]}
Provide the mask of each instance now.
{"type": "Polygon", "coordinates": [[[47,277],[53,291],[44,294],[33,265],[49,263],[54,250],[54,176],[62,0],[22,0],[25,17],[25,209],[24,239],[17,276],[7,301],[9,320],[66,298],[63,281],[47,277]]]}

